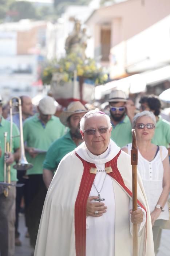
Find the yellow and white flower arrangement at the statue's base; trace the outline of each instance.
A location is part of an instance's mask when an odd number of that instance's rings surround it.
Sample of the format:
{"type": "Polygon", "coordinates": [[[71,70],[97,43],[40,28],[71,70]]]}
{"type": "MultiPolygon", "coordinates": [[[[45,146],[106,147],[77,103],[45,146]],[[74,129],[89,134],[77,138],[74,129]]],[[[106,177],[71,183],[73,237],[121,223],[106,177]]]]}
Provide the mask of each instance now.
{"type": "Polygon", "coordinates": [[[104,74],[102,67],[99,67],[94,59],[82,60],[78,54],[70,53],[60,60],[53,60],[44,68],[43,84],[50,84],[53,73],[60,73],[63,82],[70,82],[74,78],[74,71],[77,72],[77,76],[94,80],[95,85],[103,84],[108,80],[107,74],[104,74]]]}

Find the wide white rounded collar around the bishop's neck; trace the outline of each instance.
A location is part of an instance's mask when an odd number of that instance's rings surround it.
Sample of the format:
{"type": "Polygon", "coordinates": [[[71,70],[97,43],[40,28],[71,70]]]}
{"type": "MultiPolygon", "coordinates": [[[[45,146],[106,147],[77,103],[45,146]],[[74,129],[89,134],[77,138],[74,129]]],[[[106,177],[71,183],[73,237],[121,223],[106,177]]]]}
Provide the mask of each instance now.
{"type": "Polygon", "coordinates": [[[75,148],[76,153],[83,158],[85,161],[89,163],[102,164],[108,161],[111,161],[120,151],[120,147],[118,147],[111,139],[107,150],[98,156],[94,156],[90,151],[87,153],[87,147],[85,142],[80,144],[80,146],[75,148]]]}

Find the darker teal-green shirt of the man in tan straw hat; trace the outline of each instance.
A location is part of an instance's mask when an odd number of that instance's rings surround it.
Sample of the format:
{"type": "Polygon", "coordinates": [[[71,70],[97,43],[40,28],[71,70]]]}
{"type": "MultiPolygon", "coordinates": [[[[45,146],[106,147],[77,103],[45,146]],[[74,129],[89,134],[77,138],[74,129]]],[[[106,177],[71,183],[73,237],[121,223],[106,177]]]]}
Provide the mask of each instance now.
{"type": "Polygon", "coordinates": [[[47,151],[43,163],[43,169],[55,171],[62,158],[76,148],[76,144],[71,138],[70,131],[62,138],[56,140],[47,151]]]}

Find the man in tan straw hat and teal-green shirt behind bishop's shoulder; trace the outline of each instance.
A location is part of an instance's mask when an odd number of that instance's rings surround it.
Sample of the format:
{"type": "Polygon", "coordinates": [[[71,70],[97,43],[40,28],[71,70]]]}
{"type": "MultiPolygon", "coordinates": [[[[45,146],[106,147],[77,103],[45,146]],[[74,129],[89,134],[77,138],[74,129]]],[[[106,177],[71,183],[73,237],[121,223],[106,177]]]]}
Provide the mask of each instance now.
{"type": "Polygon", "coordinates": [[[79,124],[80,119],[86,112],[88,110],[80,101],[74,101],[60,114],[60,121],[66,127],[69,127],[70,131],[52,143],[47,151],[43,163],[43,179],[47,189],[50,186],[54,171],[57,169],[61,159],[83,142],[79,124]]]}

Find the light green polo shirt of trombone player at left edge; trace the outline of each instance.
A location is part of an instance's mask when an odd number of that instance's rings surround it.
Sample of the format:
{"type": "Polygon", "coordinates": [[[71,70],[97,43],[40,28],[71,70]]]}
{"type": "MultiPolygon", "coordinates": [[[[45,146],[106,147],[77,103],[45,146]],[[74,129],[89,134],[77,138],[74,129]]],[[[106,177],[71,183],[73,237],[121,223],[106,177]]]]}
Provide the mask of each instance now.
{"type": "MultiPolygon", "coordinates": [[[[10,141],[10,122],[1,118],[0,123],[0,146],[2,150],[2,155],[0,158],[0,181],[4,181],[4,132],[8,132],[7,134],[7,142],[10,141]]],[[[12,128],[12,136],[18,136],[16,138],[12,139],[12,153],[15,152],[17,148],[20,147],[20,136],[19,136],[19,129],[17,128],[16,124],[13,124],[12,128]]],[[[17,181],[17,172],[16,169],[13,169],[13,165],[15,165],[15,162],[11,165],[11,181],[17,181]]]]}

